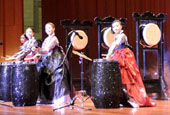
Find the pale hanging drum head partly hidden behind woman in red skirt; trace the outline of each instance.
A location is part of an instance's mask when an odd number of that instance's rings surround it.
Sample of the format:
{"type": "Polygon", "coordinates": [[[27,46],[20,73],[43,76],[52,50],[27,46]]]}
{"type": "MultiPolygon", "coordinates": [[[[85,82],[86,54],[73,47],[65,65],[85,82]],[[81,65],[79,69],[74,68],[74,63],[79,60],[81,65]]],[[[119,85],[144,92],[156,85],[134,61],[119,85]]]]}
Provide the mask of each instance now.
{"type": "Polygon", "coordinates": [[[115,39],[115,34],[113,34],[113,32],[111,31],[111,27],[104,28],[103,31],[103,41],[108,47],[110,47],[115,39]]]}

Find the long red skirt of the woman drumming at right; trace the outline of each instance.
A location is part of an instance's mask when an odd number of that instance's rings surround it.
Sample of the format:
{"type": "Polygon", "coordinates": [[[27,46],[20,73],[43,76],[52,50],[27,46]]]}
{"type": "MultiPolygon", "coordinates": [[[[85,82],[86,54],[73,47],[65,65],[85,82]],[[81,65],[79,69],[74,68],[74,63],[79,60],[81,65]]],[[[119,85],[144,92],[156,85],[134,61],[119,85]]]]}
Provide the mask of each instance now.
{"type": "Polygon", "coordinates": [[[109,58],[119,62],[122,85],[125,86],[128,102],[136,103],[138,107],[155,106],[146,94],[133,52],[129,48],[122,48],[116,50],[109,58]]]}

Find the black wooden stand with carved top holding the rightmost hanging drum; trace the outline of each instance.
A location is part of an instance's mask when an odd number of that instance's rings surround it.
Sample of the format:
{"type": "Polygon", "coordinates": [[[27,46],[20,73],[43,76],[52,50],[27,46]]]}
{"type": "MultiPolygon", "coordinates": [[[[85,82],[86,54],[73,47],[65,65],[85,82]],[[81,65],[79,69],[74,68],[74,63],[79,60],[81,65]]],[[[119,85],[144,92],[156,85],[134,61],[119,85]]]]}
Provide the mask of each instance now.
{"type": "Polygon", "coordinates": [[[145,12],[143,14],[133,13],[133,19],[136,21],[136,61],[140,68],[140,51],[143,52],[143,81],[148,93],[158,93],[156,99],[167,99],[167,84],[164,80],[164,38],[163,38],[163,22],[166,20],[166,14],[155,15],[152,12],[145,12]],[[161,39],[157,47],[144,47],[140,45],[142,38],[140,25],[155,23],[161,30],[161,39]],[[140,47],[141,46],[141,47],[140,47]],[[146,75],[146,52],[156,51],[158,63],[158,79],[145,79],[146,75]]]}

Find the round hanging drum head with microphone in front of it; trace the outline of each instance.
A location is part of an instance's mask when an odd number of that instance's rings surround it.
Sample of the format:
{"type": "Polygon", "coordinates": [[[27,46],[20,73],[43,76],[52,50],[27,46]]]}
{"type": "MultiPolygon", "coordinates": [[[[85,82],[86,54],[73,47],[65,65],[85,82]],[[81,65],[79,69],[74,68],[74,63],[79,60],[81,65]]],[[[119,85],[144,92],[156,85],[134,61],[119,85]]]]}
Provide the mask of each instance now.
{"type": "Polygon", "coordinates": [[[73,31],[69,33],[71,35],[70,39],[72,41],[73,49],[82,50],[86,47],[88,43],[88,37],[86,33],[82,30],[74,30],[74,31],[77,32],[81,36],[81,38],[78,35],[76,35],[76,33],[73,31]]]}

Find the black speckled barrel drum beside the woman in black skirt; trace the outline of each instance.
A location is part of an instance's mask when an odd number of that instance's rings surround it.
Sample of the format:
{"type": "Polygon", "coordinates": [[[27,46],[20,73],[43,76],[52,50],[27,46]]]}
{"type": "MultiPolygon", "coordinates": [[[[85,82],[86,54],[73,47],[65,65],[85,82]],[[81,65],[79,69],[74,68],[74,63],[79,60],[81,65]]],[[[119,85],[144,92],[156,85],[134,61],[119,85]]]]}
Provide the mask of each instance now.
{"type": "Polygon", "coordinates": [[[38,98],[38,72],[36,64],[15,64],[12,73],[13,105],[35,105],[38,98]]]}

